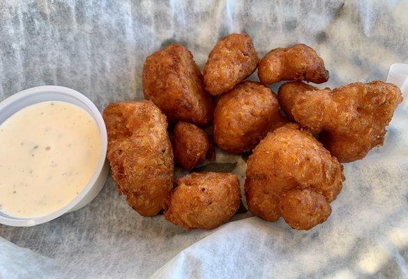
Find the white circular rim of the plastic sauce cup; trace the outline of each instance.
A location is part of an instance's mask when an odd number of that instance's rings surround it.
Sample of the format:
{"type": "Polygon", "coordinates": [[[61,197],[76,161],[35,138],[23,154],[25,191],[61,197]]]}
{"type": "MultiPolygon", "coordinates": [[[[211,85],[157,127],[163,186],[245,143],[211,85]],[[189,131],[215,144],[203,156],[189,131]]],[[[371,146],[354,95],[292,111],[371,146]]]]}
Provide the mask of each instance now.
{"type": "MultiPolygon", "coordinates": [[[[15,93],[12,96],[1,101],[0,111],[3,108],[8,107],[9,105],[15,103],[16,101],[22,98],[27,98],[27,96],[32,96],[32,95],[42,94],[42,93],[47,93],[47,92],[62,93],[64,95],[71,96],[73,98],[76,98],[77,100],[80,100],[82,103],[84,103],[84,105],[86,105],[86,107],[89,108],[91,112],[89,114],[91,114],[93,119],[96,121],[98,128],[100,130],[101,147],[100,147],[100,156],[98,160],[98,165],[96,166],[96,169],[93,172],[91,179],[86,184],[86,186],[82,189],[82,191],[71,202],[61,207],[61,209],[54,211],[50,214],[44,215],[44,216],[38,216],[38,217],[33,217],[33,218],[18,218],[18,217],[13,217],[13,216],[10,216],[10,217],[0,216],[0,223],[3,225],[9,225],[9,226],[15,226],[15,227],[30,227],[33,225],[39,225],[42,223],[46,223],[50,220],[54,220],[55,218],[58,218],[59,216],[62,216],[63,214],[70,211],[70,209],[73,209],[74,206],[79,204],[82,201],[82,199],[84,199],[84,197],[91,191],[91,189],[94,186],[96,186],[96,182],[98,181],[98,178],[103,170],[103,165],[105,164],[106,153],[107,153],[107,130],[105,126],[105,121],[103,121],[102,114],[100,114],[96,105],[93,104],[92,101],[89,100],[89,98],[84,96],[82,93],[75,91],[74,89],[64,87],[64,86],[56,86],[56,85],[36,86],[30,89],[25,89],[23,91],[15,93]]],[[[38,102],[38,103],[41,103],[41,102],[38,102]]]]}

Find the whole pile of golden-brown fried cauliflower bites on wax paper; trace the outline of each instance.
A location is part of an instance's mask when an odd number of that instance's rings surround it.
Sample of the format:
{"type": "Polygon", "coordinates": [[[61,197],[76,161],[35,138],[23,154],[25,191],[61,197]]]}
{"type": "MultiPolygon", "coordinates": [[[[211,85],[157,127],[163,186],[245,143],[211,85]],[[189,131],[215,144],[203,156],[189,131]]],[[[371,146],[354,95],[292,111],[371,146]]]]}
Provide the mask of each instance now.
{"type": "Polygon", "coordinates": [[[323,223],[345,181],[340,163],[382,145],[402,102],[400,89],[381,81],[335,89],[305,83],[327,80],[324,61],[311,47],[276,48],[259,60],[247,34],[218,41],[204,75],[181,45],[151,54],[143,68],[146,100],[111,103],[103,113],[119,192],[142,216],[164,209],[175,225],[216,228],[239,209],[236,175],[190,172],[174,181],[174,161],[194,171],[213,159],[215,144],[230,153],[252,152],[245,196],[255,216],[282,217],[294,229],[323,223]],[[256,69],[260,82],[244,81],[256,69]],[[282,81],[290,82],[278,94],[268,87],[282,81]],[[203,128],[211,125],[207,135],[203,128]]]}

